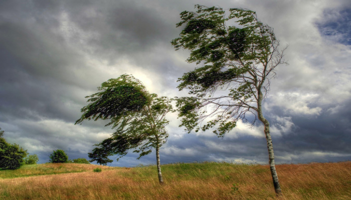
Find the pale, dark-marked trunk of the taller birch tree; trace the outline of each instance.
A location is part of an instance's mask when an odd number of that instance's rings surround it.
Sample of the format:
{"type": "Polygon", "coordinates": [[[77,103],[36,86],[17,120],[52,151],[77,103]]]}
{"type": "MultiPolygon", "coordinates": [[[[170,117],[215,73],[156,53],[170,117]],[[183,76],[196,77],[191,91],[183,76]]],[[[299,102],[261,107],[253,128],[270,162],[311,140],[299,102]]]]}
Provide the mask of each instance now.
{"type": "Polygon", "coordinates": [[[280,189],[280,184],[278,180],[278,174],[275,169],[275,163],[274,163],[274,151],[273,151],[273,143],[272,143],[272,138],[271,134],[269,131],[269,122],[268,120],[263,116],[262,113],[262,99],[263,99],[263,94],[260,92],[259,94],[259,100],[258,100],[258,106],[257,106],[257,112],[258,112],[258,119],[262,121],[264,124],[264,134],[266,135],[266,140],[267,140],[267,148],[268,148],[268,157],[269,157],[269,167],[271,169],[271,175],[273,179],[273,185],[274,185],[274,190],[277,195],[281,195],[281,189],[280,189]]]}

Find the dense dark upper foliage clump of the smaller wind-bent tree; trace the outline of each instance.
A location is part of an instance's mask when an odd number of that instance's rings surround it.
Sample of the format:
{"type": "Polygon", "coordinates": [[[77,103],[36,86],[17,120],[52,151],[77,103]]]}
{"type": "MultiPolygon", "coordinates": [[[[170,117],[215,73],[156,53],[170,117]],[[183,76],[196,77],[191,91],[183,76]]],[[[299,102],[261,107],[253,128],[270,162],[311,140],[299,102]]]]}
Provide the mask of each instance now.
{"type": "MultiPolygon", "coordinates": [[[[124,115],[141,110],[148,102],[147,92],[141,82],[131,75],[123,74],[118,78],[111,78],[98,87],[100,92],[90,96],[87,106],[75,124],[84,119],[114,119],[113,122],[123,121],[124,115]]],[[[106,125],[112,124],[108,123],[106,125]]]]}

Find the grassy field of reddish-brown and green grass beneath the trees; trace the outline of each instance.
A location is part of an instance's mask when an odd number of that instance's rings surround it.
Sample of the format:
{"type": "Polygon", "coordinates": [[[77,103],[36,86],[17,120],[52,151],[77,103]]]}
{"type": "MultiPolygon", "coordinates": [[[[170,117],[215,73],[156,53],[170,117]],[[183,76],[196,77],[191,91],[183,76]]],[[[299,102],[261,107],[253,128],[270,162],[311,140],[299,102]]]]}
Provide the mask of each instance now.
{"type": "Polygon", "coordinates": [[[280,164],[276,198],[268,165],[176,163],[108,167],[36,164],[0,170],[0,199],[351,199],[351,162],[280,164]]]}

